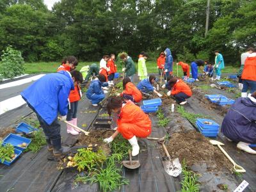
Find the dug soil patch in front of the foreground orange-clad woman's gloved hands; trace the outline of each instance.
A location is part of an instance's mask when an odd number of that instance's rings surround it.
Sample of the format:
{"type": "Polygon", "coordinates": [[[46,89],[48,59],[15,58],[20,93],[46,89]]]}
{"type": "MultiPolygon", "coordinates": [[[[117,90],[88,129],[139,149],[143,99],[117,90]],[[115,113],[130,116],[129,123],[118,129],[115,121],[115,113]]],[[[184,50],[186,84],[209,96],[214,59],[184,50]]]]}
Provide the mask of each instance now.
{"type": "Polygon", "coordinates": [[[109,138],[113,134],[113,132],[114,131],[111,129],[91,130],[89,136],[84,136],[83,134],[79,136],[76,146],[97,144],[99,148],[102,148],[105,154],[108,155],[110,154],[111,150],[108,143],[105,143],[103,140],[104,138],[109,138]]]}

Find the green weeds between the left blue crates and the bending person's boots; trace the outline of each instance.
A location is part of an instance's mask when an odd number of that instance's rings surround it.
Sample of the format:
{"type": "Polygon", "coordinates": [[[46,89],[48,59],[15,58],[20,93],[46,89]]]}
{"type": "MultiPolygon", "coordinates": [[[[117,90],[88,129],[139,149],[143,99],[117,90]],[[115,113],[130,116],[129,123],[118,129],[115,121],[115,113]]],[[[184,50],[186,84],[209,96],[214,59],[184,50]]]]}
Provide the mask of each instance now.
{"type": "Polygon", "coordinates": [[[31,143],[28,146],[28,148],[26,148],[25,151],[29,151],[31,150],[31,152],[33,153],[37,153],[38,151],[40,151],[40,149],[46,145],[46,140],[45,140],[45,136],[44,136],[44,132],[42,129],[39,129],[38,131],[34,131],[32,133],[32,138],[31,138],[31,143]]]}

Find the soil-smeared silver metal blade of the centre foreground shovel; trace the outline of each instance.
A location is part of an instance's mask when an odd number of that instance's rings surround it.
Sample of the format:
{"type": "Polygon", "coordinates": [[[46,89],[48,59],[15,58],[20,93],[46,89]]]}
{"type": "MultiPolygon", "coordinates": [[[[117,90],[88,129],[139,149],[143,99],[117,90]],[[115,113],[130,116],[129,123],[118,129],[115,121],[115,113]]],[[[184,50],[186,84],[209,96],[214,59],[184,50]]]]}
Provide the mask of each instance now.
{"type": "Polygon", "coordinates": [[[178,158],[163,160],[164,170],[168,175],[178,177],[182,172],[182,166],[178,158]]]}

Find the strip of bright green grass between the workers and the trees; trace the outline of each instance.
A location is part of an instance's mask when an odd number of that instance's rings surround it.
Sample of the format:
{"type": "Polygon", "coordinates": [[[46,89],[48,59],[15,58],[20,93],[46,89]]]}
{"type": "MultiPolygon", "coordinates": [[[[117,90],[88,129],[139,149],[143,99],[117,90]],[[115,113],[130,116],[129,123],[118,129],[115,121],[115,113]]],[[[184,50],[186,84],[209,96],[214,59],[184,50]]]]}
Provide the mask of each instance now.
{"type": "MultiPolygon", "coordinates": [[[[79,65],[77,66],[77,70],[80,70],[85,65],[90,65],[92,63],[97,63],[99,65],[99,62],[79,62],[79,65]]],[[[135,63],[136,68],[138,68],[137,63],[135,63]]],[[[57,68],[60,66],[60,63],[58,62],[38,62],[38,63],[25,63],[25,72],[26,74],[36,74],[40,72],[45,73],[51,73],[56,72],[57,68]]],[[[183,76],[182,68],[179,67],[179,77],[183,76]]],[[[227,66],[222,70],[223,73],[228,74],[236,74],[239,68],[227,66]]],[[[137,70],[138,71],[138,70],[137,70]]],[[[200,70],[199,70],[200,71],[200,70]]],[[[122,72],[122,66],[118,65],[118,72],[122,72]]],[[[154,61],[147,61],[147,72],[148,74],[151,73],[157,73],[157,65],[154,61]]],[[[173,65],[173,74],[177,76],[177,65],[173,65]]]]}

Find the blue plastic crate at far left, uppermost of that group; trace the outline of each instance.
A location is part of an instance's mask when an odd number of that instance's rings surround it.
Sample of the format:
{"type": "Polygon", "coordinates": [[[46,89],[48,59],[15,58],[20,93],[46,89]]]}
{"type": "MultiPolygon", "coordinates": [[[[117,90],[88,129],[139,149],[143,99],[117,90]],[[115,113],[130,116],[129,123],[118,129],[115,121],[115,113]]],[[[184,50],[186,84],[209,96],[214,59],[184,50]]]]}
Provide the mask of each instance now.
{"type": "Polygon", "coordinates": [[[17,134],[10,133],[6,138],[3,140],[4,143],[10,143],[14,146],[14,148],[17,148],[21,150],[22,152],[28,147],[28,145],[31,143],[31,140],[28,138],[24,138],[22,136],[19,136],[17,134]],[[26,143],[26,147],[19,147],[18,145],[26,143]]]}

